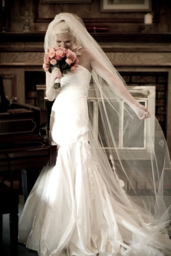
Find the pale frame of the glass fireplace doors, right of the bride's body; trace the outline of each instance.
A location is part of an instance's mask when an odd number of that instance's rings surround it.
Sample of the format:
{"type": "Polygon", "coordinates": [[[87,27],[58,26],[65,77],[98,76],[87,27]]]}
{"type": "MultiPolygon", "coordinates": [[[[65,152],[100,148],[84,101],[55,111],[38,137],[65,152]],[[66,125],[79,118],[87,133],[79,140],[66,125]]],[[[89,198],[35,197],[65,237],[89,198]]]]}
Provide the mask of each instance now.
{"type": "MultiPolygon", "coordinates": [[[[109,91],[107,93],[107,95],[110,95],[109,87],[105,87],[102,90],[109,91]]],[[[152,115],[155,115],[155,86],[128,86],[128,91],[141,105],[147,107],[149,112],[152,115]]],[[[110,108],[111,108],[110,104],[109,103],[106,103],[106,104],[107,104],[106,109],[108,111],[110,111],[110,108]]],[[[93,125],[94,132],[97,136],[99,136],[99,141],[101,138],[102,143],[103,143],[103,149],[108,154],[109,148],[107,147],[107,145],[105,145],[105,143],[106,143],[105,135],[103,133],[103,130],[101,129],[102,120],[101,120],[101,116],[100,116],[100,110],[98,107],[98,101],[97,101],[96,93],[95,93],[93,86],[90,86],[90,89],[89,89],[88,106],[89,106],[89,113],[90,112],[92,113],[91,115],[89,115],[89,117],[90,117],[91,123],[93,125]]],[[[111,128],[114,131],[114,137],[116,138],[116,145],[117,145],[118,151],[120,152],[120,156],[122,157],[122,152],[123,152],[123,157],[124,157],[125,149],[128,149],[129,157],[131,157],[131,158],[132,157],[134,159],[143,159],[144,157],[148,158],[148,154],[149,154],[149,159],[150,159],[150,156],[151,156],[150,149],[149,149],[150,147],[148,145],[149,142],[147,142],[147,136],[148,136],[149,129],[147,129],[147,120],[146,119],[141,122],[141,127],[140,127],[140,129],[137,130],[137,134],[134,134],[134,136],[139,136],[138,134],[143,134],[140,147],[137,147],[136,144],[128,144],[127,138],[124,137],[124,135],[123,135],[124,134],[123,131],[125,130],[125,124],[124,124],[124,120],[125,120],[125,116],[126,116],[125,109],[127,109],[127,108],[129,108],[129,106],[124,101],[119,106],[121,122],[118,122],[119,123],[118,127],[115,126],[115,122],[112,122],[112,120],[109,120],[110,124],[111,125],[113,124],[113,127],[111,127],[111,128]]],[[[114,110],[112,110],[112,111],[114,112],[112,119],[113,120],[118,119],[118,114],[114,110]]],[[[138,119],[138,117],[137,117],[137,119],[138,119]]],[[[150,127],[150,132],[152,135],[154,134],[154,124],[153,124],[153,126],[150,127]]],[[[127,129],[125,136],[127,136],[127,134],[130,134],[130,133],[131,133],[131,130],[127,129]]],[[[114,157],[115,157],[115,150],[114,150],[114,157]]],[[[117,156],[116,156],[116,158],[117,158],[117,156]]]]}

